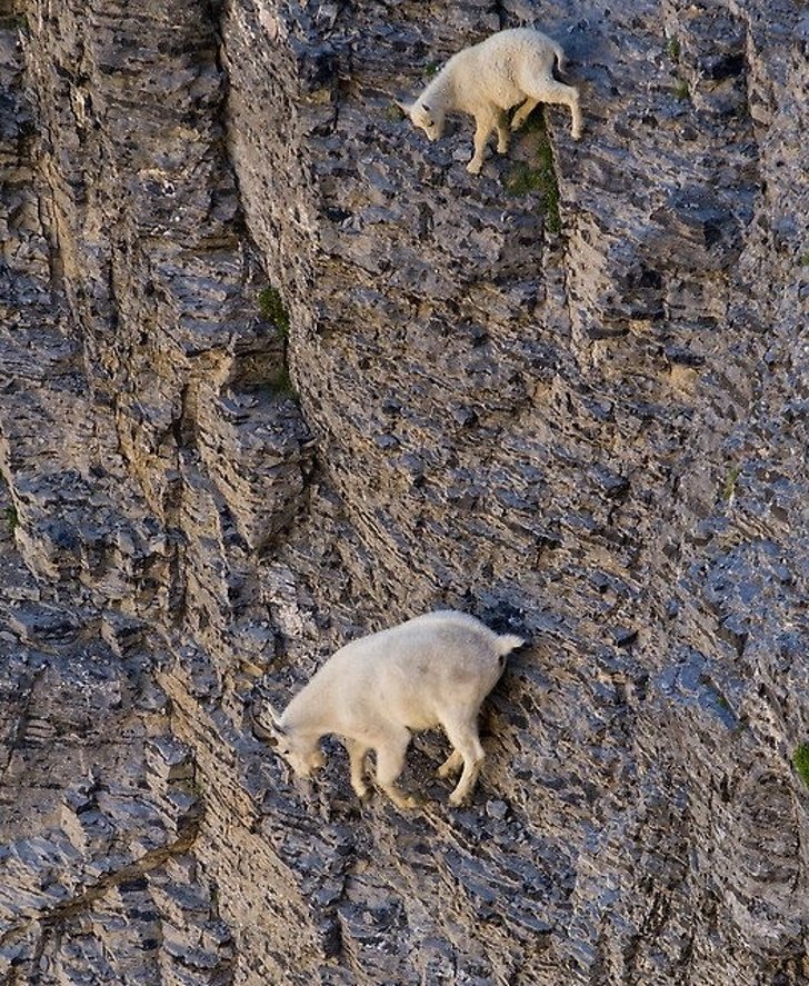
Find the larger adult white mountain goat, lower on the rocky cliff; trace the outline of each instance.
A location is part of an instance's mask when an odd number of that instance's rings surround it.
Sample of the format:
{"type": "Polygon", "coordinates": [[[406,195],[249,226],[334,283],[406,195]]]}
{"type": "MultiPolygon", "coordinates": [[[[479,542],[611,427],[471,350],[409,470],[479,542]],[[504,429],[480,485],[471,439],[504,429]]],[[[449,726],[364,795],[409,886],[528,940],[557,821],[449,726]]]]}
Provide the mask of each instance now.
{"type": "MultiPolygon", "coordinates": [[[[324,764],[322,736],[341,737],[351,765],[351,787],[368,794],[366,757],[377,755],[377,783],[400,807],[419,801],[397,787],[411,733],[441,726],[452,753],[439,777],[462,769],[450,805],[472,793],[483,761],[478,713],[497,684],[506,656],[525,641],[499,636],[480,620],[452,610],[419,616],[347,644],[289,703],[271,710],[267,738],[301,777],[324,764]]],[[[262,730],[263,731],[263,730],[262,730]]]]}

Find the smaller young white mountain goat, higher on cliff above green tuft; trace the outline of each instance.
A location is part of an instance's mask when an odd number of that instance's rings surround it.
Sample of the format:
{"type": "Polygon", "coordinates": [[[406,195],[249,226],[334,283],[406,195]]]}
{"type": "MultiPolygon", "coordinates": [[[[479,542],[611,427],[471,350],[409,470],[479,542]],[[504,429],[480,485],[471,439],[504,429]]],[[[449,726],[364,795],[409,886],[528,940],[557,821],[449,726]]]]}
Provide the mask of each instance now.
{"type": "Polygon", "coordinates": [[[581,137],[579,91],[553,78],[553,62],[565,67],[565,52],[546,34],[532,28],[498,31],[479,44],[465,48],[447,62],[413,103],[399,103],[413,126],[430,140],[443,133],[445,117],[461,110],[475,117],[475,155],[467,170],[479,175],[486,142],[497,131],[498,153],[509,149],[506,111],[522,103],[511,120],[511,129],[525,123],[540,102],[562,103],[572,113],[571,132],[581,137]]]}

